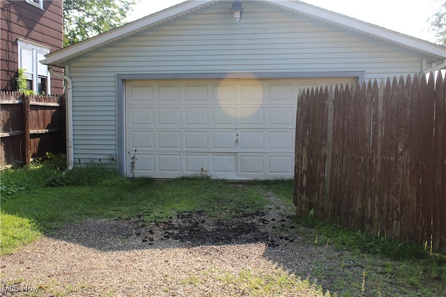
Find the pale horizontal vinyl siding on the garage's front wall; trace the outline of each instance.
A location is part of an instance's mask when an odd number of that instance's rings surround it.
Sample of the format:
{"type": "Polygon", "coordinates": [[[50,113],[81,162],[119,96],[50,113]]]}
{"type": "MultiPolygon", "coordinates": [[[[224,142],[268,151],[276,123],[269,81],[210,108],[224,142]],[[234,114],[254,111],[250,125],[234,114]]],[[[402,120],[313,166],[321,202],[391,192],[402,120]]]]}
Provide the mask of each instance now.
{"type": "Polygon", "coordinates": [[[75,162],[116,154],[116,76],[229,72],[361,71],[365,79],[420,73],[422,57],[359,33],[246,1],[144,31],[70,61],[75,162]]]}

